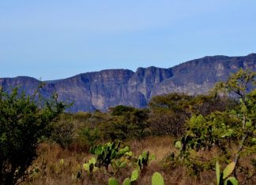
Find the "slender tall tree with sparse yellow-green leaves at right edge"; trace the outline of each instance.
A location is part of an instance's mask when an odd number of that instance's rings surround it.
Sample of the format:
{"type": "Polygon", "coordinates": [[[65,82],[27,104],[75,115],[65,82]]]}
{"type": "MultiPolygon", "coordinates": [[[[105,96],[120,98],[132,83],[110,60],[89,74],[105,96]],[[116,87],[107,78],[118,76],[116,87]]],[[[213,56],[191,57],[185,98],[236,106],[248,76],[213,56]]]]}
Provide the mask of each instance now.
{"type": "Polygon", "coordinates": [[[248,142],[251,144],[251,142],[256,140],[256,123],[252,123],[252,121],[255,121],[254,113],[256,111],[254,105],[255,89],[253,88],[255,85],[256,72],[250,72],[249,70],[243,70],[242,68],[230,76],[226,83],[222,83],[222,87],[224,89],[226,89],[228,92],[234,93],[239,97],[240,110],[238,115],[243,115],[243,137],[235,154],[235,164],[238,163],[240,153],[243,150],[243,147],[246,145],[246,142],[247,144],[248,142]]]}

